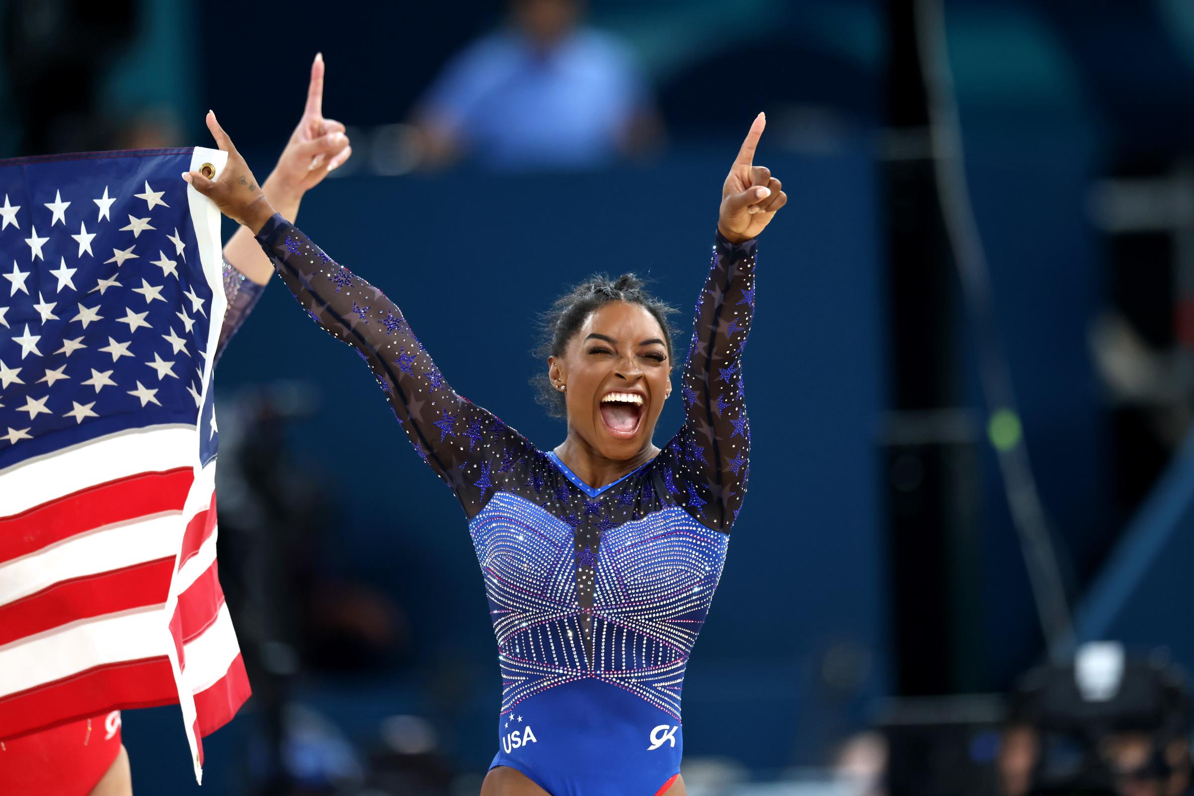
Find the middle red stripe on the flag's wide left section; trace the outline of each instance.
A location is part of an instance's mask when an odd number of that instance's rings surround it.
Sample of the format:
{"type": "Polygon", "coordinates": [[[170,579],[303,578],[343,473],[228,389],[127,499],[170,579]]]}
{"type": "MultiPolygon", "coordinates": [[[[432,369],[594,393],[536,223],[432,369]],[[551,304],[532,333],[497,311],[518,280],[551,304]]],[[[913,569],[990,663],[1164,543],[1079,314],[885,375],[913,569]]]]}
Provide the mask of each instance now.
{"type": "Polygon", "coordinates": [[[173,574],[168,557],[54,584],[0,606],[0,646],[68,622],[165,603],[173,574]]]}

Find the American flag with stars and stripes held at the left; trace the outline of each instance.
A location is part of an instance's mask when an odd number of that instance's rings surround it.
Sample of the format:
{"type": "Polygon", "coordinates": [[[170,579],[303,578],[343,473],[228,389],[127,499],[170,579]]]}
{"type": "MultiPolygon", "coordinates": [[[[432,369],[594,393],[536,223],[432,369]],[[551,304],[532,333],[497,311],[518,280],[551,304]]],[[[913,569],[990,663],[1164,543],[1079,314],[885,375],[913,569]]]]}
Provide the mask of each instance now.
{"type": "Polygon", "coordinates": [[[0,161],[0,739],[248,698],[216,573],[224,153],[0,161]]]}

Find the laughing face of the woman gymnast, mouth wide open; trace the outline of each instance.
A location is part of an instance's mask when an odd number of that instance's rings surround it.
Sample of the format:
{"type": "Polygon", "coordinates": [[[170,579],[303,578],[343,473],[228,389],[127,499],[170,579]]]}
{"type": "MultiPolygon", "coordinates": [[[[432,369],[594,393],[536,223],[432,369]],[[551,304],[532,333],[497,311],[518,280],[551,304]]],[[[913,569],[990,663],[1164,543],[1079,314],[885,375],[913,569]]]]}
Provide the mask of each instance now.
{"type": "Polygon", "coordinates": [[[626,461],[651,445],[671,394],[671,356],[659,321],[640,304],[611,301],[585,319],[549,376],[564,385],[570,433],[604,458],[626,461]]]}

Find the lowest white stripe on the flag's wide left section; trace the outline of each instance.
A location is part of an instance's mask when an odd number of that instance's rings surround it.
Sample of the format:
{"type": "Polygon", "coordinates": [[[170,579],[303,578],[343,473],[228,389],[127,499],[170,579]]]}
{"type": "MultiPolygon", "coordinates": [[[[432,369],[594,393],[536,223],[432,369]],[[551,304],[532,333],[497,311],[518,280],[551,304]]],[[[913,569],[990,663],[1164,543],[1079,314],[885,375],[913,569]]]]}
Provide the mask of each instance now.
{"type": "Polygon", "coordinates": [[[0,647],[0,696],[104,664],[166,655],[174,644],[161,605],[80,619],[0,647]]]}

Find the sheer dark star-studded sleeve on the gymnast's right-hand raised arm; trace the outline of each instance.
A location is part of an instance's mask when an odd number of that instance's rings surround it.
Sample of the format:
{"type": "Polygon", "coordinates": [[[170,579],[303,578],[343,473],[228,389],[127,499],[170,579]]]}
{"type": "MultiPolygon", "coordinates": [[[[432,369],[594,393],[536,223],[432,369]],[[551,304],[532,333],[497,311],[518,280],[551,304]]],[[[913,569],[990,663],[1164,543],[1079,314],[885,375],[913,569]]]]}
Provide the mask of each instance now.
{"type": "Polygon", "coordinates": [[[756,245],[718,233],[684,364],[684,425],[658,457],[666,490],[701,524],[726,533],[750,476],[741,353],[755,311],[756,245]]]}

